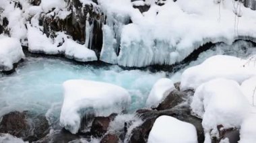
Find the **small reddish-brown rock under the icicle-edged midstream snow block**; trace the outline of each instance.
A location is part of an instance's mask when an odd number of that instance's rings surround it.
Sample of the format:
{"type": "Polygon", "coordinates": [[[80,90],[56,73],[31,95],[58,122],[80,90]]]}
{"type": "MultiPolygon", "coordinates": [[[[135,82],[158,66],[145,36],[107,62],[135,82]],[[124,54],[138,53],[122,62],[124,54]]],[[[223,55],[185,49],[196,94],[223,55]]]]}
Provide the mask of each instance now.
{"type": "Polygon", "coordinates": [[[90,132],[93,136],[102,136],[108,131],[110,117],[95,117],[90,132]]]}

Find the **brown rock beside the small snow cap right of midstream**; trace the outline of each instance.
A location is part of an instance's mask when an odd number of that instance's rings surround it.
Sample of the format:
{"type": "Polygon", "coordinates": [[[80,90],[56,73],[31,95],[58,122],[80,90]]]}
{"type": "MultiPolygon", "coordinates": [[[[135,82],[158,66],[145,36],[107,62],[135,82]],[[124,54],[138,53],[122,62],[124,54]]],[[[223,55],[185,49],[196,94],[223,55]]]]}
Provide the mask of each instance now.
{"type": "Polygon", "coordinates": [[[183,97],[186,96],[186,93],[174,90],[170,92],[170,94],[156,107],[156,109],[159,110],[164,110],[164,109],[172,109],[172,107],[175,107],[176,105],[179,105],[183,101],[183,97]]]}

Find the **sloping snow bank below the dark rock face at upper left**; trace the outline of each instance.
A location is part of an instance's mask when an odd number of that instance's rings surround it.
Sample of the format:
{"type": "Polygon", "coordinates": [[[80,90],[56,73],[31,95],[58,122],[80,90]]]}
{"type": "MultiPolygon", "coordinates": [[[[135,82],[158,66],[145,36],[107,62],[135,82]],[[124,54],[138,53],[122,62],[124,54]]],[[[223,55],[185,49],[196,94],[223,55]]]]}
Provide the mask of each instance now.
{"type": "Polygon", "coordinates": [[[69,39],[63,32],[57,32],[55,39],[47,38],[40,28],[28,25],[28,50],[44,54],[65,54],[80,62],[98,60],[95,52],[69,39]]]}

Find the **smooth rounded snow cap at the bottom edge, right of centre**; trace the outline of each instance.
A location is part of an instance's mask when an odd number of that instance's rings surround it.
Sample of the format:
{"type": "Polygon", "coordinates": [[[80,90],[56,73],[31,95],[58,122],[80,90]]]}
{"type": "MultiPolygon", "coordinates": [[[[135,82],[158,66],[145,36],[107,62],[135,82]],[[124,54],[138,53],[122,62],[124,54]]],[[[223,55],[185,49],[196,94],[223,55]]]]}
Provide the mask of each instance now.
{"type": "Polygon", "coordinates": [[[197,131],[192,124],[162,115],[156,119],[148,136],[148,143],[154,142],[197,143],[197,131]]]}

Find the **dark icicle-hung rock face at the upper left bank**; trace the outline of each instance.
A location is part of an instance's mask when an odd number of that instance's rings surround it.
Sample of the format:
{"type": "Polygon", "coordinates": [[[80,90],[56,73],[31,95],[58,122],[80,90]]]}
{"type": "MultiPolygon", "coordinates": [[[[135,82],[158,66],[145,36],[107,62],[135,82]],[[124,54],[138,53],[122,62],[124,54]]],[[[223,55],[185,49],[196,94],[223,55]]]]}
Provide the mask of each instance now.
{"type": "MultiPolygon", "coordinates": [[[[65,31],[73,40],[84,44],[86,41],[86,24],[90,24],[90,26],[93,26],[93,30],[92,40],[90,40],[92,43],[89,45],[92,45],[92,50],[95,50],[97,54],[100,53],[103,43],[102,20],[105,18],[102,11],[98,5],[82,5],[79,0],[68,0],[67,2],[69,3],[67,9],[71,14],[67,15],[65,19],[59,19],[56,16],[57,13],[51,17],[45,13],[40,15],[40,26],[43,26],[44,33],[49,37],[51,34],[54,36],[55,32],[65,31]]],[[[98,3],[96,0],[93,2],[98,3]]],[[[49,11],[49,13],[51,12],[53,11],[49,11]]]]}

